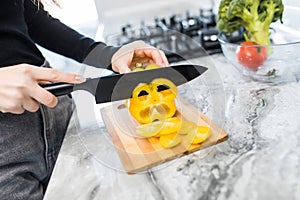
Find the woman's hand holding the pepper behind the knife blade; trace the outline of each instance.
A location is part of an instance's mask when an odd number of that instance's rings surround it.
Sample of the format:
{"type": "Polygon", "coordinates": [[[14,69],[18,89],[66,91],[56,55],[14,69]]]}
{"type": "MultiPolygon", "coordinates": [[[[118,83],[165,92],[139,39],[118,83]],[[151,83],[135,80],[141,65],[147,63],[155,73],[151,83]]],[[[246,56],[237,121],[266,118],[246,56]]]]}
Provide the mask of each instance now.
{"type": "Polygon", "coordinates": [[[143,41],[122,46],[112,57],[112,69],[119,73],[130,72],[136,63],[156,63],[161,67],[169,65],[165,53],[143,41]]]}

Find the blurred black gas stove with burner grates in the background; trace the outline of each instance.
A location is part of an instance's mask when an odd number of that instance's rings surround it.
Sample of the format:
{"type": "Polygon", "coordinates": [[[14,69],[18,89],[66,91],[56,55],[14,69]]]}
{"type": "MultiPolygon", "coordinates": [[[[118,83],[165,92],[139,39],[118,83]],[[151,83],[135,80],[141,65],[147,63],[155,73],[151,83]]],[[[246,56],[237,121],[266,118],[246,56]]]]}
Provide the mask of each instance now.
{"type": "Polygon", "coordinates": [[[220,53],[216,15],[213,9],[199,9],[199,14],[174,14],[168,18],[155,18],[153,23],[141,21],[139,26],[126,24],[120,34],[108,35],[112,45],[123,45],[135,40],[162,49],[170,63],[220,53]]]}

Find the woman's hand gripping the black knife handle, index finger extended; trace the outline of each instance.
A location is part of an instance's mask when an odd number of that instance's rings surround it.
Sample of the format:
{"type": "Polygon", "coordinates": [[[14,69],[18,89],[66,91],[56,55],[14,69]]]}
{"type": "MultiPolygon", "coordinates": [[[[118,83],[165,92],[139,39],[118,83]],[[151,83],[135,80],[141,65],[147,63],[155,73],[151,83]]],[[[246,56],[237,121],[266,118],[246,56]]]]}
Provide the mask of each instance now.
{"type": "Polygon", "coordinates": [[[84,78],[72,73],[29,64],[0,68],[0,111],[21,114],[35,112],[39,103],[48,107],[57,104],[57,98],[40,84],[50,82],[81,83],[84,78]]]}

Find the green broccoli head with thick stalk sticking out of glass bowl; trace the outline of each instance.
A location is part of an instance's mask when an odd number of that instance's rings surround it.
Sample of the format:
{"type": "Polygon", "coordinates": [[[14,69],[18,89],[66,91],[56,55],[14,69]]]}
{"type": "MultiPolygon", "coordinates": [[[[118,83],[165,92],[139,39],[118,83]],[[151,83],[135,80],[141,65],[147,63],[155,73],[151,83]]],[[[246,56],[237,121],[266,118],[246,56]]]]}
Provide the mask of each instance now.
{"type": "Polygon", "coordinates": [[[217,17],[220,32],[231,34],[244,28],[247,41],[270,44],[270,25],[282,23],[284,6],[281,0],[221,0],[217,17]]]}

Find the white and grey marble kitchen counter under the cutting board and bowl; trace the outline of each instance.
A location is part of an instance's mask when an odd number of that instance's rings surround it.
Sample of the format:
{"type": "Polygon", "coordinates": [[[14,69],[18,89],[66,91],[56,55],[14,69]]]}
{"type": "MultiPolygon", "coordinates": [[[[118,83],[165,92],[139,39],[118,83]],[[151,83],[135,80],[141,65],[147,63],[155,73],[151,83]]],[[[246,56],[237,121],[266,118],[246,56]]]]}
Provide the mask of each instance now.
{"type": "Polygon", "coordinates": [[[179,94],[228,132],[226,141],[128,175],[100,115],[108,104],[74,92],[77,110],[45,200],[300,199],[299,82],[248,80],[222,54],[188,62],[209,70],[179,94]]]}

